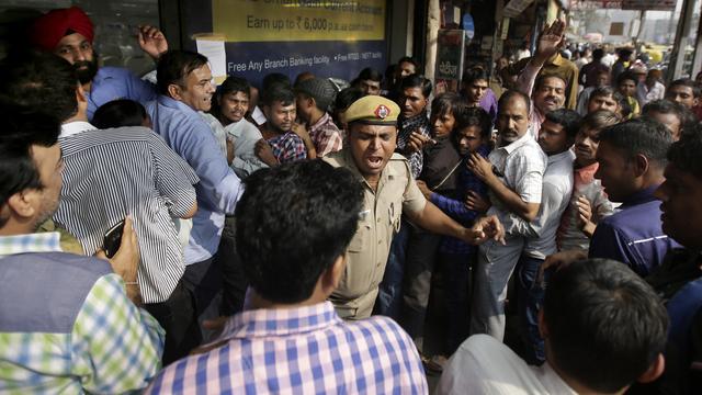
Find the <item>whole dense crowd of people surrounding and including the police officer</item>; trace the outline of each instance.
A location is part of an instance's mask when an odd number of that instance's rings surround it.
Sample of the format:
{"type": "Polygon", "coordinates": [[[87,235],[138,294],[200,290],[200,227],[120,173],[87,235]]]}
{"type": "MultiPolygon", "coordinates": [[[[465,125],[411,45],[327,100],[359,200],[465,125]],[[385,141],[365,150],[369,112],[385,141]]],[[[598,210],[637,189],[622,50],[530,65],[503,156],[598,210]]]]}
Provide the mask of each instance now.
{"type": "Polygon", "coordinates": [[[141,26],[149,81],[79,8],[29,30],[0,67],[1,393],[699,391],[699,82],[578,67],[562,21],[457,92],[411,57],[215,87],[141,26]]]}

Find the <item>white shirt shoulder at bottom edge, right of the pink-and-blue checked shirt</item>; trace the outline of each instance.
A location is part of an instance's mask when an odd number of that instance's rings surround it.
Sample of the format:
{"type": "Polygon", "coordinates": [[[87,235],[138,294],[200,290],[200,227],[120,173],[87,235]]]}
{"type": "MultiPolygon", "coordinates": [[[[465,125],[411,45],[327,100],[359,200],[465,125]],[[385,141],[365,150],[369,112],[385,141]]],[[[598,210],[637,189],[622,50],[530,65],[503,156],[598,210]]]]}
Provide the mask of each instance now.
{"type": "Polygon", "coordinates": [[[512,350],[488,335],[473,335],[461,345],[443,370],[438,395],[575,395],[545,362],[530,366],[512,350]]]}

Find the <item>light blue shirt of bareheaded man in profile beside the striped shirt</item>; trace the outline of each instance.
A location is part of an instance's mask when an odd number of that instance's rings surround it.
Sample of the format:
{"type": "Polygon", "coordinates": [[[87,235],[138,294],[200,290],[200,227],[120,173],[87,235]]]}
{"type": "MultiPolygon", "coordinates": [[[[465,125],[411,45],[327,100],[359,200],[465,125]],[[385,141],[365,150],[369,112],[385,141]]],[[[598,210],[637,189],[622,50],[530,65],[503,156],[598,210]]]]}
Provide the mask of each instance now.
{"type": "Polygon", "coordinates": [[[185,264],[202,262],[217,252],[225,214],[234,208],[244,192],[239,178],[227,166],[210,125],[197,112],[171,98],[159,95],[146,103],[154,131],[161,135],[195,170],[197,213],[185,247],[185,264]]]}

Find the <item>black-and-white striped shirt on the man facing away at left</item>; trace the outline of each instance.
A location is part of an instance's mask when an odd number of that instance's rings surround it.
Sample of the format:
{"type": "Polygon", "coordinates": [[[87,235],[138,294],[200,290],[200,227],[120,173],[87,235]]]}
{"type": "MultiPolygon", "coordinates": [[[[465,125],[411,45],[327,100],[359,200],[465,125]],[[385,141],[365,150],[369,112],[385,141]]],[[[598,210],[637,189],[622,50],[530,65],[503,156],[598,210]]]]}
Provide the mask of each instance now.
{"type": "Polygon", "coordinates": [[[171,217],[194,206],[197,176],[144,127],[98,131],[72,122],[63,126],[59,142],[66,167],[54,221],[93,255],[105,232],[131,214],[141,253],[137,282],[144,303],[166,301],[185,271],[171,217]]]}

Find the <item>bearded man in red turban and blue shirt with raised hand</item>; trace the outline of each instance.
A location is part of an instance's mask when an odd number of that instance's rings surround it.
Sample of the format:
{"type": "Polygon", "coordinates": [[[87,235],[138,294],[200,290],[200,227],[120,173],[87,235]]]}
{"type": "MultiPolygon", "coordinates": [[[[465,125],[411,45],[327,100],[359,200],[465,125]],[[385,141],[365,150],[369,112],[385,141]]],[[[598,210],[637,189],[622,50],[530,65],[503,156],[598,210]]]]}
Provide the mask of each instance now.
{"type": "MultiPolygon", "coordinates": [[[[116,99],[145,103],[156,99],[156,87],[121,67],[99,67],[93,49],[93,25],[78,7],[57,9],[32,24],[30,43],[39,50],[54,53],[68,60],[88,97],[88,117],[102,104],[116,99]]],[[[139,46],[154,59],[168,50],[168,42],[158,29],[139,27],[139,46]]]]}

